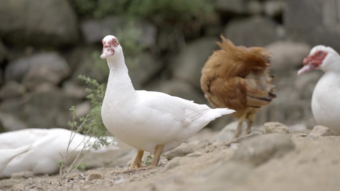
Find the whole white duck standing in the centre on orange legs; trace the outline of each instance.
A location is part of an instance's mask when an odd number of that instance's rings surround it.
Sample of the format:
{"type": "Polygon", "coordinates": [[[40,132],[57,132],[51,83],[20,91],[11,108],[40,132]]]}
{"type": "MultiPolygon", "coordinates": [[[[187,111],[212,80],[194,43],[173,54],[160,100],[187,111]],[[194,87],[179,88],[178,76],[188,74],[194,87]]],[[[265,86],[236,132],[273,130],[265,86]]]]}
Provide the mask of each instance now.
{"type": "Polygon", "coordinates": [[[106,58],[110,73],[101,117],[114,136],[138,149],[130,170],[157,166],[162,152],[177,147],[215,118],[235,112],[210,109],[161,92],[136,91],[117,38],[108,35],[102,44],[100,58],[106,58]],[[154,154],[147,167],[141,165],[144,151],[154,154]]]}

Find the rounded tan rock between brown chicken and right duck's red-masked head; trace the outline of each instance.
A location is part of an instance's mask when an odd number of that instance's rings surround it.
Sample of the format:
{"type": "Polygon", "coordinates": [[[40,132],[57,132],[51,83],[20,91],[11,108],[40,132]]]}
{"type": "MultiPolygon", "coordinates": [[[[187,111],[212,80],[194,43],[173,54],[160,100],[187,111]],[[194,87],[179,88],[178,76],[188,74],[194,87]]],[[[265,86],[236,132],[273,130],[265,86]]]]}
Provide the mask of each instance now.
{"type": "Polygon", "coordinates": [[[270,70],[275,74],[287,74],[302,66],[302,60],[309,54],[311,47],[306,43],[276,41],[265,47],[272,53],[270,70]]]}

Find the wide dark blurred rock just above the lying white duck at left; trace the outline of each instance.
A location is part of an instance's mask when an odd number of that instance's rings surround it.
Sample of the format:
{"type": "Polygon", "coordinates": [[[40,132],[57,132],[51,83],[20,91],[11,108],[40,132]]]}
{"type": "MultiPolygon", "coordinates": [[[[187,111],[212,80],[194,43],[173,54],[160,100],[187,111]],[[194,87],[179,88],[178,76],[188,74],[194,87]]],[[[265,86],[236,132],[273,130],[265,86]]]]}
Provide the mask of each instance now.
{"type": "Polygon", "coordinates": [[[29,128],[66,128],[71,120],[69,109],[80,102],[60,89],[48,89],[4,100],[0,111],[14,115],[29,128]]]}

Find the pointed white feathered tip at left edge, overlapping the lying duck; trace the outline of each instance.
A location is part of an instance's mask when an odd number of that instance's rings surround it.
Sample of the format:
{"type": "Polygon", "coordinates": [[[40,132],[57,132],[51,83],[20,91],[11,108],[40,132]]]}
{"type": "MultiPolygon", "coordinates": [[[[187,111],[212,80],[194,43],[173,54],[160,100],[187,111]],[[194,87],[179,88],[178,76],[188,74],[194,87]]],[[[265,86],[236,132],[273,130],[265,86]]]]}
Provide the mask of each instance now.
{"type": "Polygon", "coordinates": [[[14,157],[27,152],[30,147],[26,145],[19,148],[0,149],[0,173],[14,157]]]}

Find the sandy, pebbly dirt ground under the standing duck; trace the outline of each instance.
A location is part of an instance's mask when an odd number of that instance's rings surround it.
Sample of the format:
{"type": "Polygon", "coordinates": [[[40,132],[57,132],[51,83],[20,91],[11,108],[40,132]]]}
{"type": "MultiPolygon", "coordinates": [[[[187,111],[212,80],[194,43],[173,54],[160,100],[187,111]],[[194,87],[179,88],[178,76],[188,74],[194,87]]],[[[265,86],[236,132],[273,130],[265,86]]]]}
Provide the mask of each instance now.
{"type": "MultiPolygon", "coordinates": [[[[256,142],[253,150],[241,146],[267,135],[246,137],[231,144],[215,141],[216,134],[203,129],[187,141],[195,152],[170,161],[163,156],[160,166],[154,169],[113,173],[127,168],[136,153],[120,143],[120,150],[88,156],[85,162],[89,169],[77,171],[66,180],[60,181],[59,175],[2,179],[0,191],[340,191],[340,136],[284,135],[294,148],[275,155],[256,142]],[[236,152],[248,153],[245,157],[259,152],[268,160],[254,165],[235,160],[236,152]],[[87,181],[86,176],[91,173],[102,177],[87,181]]],[[[280,150],[280,143],[270,141],[264,147],[274,144],[280,150]]]]}

